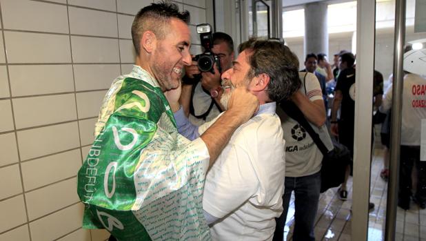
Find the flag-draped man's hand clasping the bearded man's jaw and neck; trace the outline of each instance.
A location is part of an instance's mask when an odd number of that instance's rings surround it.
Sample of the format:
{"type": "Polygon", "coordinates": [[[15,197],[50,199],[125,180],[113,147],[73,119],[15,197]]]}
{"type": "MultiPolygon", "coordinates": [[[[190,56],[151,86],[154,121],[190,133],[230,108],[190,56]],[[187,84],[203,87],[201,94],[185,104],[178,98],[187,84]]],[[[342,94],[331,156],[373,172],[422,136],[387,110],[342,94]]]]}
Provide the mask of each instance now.
{"type": "Polygon", "coordinates": [[[245,86],[237,86],[232,91],[227,111],[241,118],[241,123],[247,122],[259,108],[259,101],[245,86]]]}

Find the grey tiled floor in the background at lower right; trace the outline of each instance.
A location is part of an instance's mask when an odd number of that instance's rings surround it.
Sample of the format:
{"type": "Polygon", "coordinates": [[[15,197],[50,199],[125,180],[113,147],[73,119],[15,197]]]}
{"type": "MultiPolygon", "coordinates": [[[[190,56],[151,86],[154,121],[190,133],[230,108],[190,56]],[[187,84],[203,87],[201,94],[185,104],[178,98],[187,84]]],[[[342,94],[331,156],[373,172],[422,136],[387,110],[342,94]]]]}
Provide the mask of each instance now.
{"type": "MultiPolygon", "coordinates": [[[[370,202],[375,204],[373,211],[369,213],[368,240],[385,240],[385,214],[387,182],[380,177],[383,168],[383,149],[374,151],[371,176],[370,202]]],[[[348,200],[338,199],[338,188],[329,189],[321,194],[318,212],[315,222],[316,240],[351,240],[351,206],[352,206],[352,177],[348,181],[348,200]]],[[[284,237],[292,240],[294,226],[294,196],[290,201],[290,209],[284,230],[284,237]]],[[[404,211],[398,207],[396,216],[396,240],[425,240],[426,241],[426,209],[418,209],[412,202],[411,209],[404,211]]]]}

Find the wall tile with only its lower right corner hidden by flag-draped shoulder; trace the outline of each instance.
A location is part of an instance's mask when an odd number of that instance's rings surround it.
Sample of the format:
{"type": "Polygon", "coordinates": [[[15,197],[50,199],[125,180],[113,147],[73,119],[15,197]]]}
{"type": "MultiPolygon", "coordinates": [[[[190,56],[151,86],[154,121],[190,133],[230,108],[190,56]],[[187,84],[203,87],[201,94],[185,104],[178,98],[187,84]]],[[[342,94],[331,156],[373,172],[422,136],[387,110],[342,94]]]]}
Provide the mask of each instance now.
{"type": "Polygon", "coordinates": [[[77,91],[108,89],[112,81],[119,75],[119,64],[74,65],[75,88],[77,91]]]}

